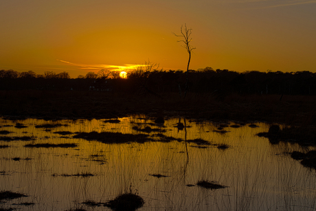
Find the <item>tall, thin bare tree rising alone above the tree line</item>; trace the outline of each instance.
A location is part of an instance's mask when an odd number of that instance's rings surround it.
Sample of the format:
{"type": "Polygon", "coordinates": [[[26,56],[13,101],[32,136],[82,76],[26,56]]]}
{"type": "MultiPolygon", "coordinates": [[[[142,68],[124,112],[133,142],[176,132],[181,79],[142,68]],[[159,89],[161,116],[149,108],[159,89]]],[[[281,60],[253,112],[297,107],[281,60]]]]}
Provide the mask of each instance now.
{"type": "Polygon", "coordinates": [[[183,29],[183,25],[181,25],[181,34],[175,34],[175,33],[173,33],[173,34],[174,34],[174,36],[179,36],[179,37],[183,38],[183,40],[178,41],[178,42],[184,43],[184,45],[182,45],[182,47],[184,47],[189,54],[187,71],[185,72],[185,74],[186,74],[186,76],[185,76],[185,91],[184,91],[184,96],[183,96],[183,98],[185,98],[186,93],[188,92],[188,72],[189,72],[189,65],[190,65],[190,60],[191,60],[191,53],[192,53],[192,50],[195,49],[195,47],[192,47],[192,45],[190,45],[190,42],[192,41],[192,38],[190,37],[192,34],[192,29],[188,28],[187,25],[184,24],[184,29],[183,29]]]}

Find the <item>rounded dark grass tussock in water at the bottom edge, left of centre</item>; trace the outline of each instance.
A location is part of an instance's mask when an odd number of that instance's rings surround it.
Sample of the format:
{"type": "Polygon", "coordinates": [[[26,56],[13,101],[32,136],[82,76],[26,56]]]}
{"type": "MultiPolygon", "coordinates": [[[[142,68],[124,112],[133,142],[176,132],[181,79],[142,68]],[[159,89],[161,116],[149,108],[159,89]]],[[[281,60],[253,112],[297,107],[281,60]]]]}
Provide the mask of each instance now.
{"type": "Polygon", "coordinates": [[[116,211],[134,211],[144,205],[144,199],[133,193],[125,193],[106,202],[104,205],[116,211]]]}

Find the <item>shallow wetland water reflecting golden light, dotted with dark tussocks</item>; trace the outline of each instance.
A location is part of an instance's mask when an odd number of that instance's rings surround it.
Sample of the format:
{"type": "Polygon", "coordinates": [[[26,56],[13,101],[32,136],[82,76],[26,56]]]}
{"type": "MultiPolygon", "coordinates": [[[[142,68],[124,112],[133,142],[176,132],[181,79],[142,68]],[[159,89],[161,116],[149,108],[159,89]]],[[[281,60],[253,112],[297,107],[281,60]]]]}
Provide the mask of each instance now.
{"type": "Polygon", "coordinates": [[[165,119],[163,125],[146,116],[118,120],[0,119],[0,191],[27,195],[2,200],[0,208],[110,210],[83,202],[106,203],[129,192],[144,199],[138,210],[316,208],[315,170],[289,156],[313,148],[271,144],[258,137],[257,133],[268,131],[268,124],[250,127],[186,120],[187,127],[179,129],[179,118],[165,119]],[[126,140],[117,144],[104,142],[106,137],[74,137],[92,131],[120,134],[117,142],[126,140]],[[124,134],[143,134],[148,139],[135,142],[124,134]],[[226,187],[196,186],[201,180],[226,187]]]}

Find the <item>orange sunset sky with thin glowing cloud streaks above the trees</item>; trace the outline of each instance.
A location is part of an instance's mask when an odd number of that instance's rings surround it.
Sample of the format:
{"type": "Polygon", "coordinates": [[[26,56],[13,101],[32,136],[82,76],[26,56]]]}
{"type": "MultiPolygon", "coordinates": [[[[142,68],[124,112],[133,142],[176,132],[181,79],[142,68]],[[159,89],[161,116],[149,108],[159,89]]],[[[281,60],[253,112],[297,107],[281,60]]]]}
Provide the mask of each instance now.
{"type": "Polygon", "coordinates": [[[0,0],[0,69],[316,71],[316,0],[0,0]]]}

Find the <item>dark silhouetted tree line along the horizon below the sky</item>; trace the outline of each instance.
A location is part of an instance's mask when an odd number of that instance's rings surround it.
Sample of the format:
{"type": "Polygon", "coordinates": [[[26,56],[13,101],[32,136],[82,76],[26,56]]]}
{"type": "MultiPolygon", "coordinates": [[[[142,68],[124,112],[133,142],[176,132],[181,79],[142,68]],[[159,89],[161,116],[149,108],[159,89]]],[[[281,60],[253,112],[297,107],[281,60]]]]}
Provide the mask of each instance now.
{"type": "Polygon", "coordinates": [[[181,70],[163,71],[155,66],[146,66],[128,71],[127,78],[120,78],[120,71],[100,70],[89,72],[86,76],[70,78],[67,72],[56,74],[46,71],[36,74],[34,71],[17,72],[0,70],[1,90],[52,89],[89,91],[95,80],[111,86],[113,91],[128,93],[166,93],[185,90],[193,93],[240,93],[240,94],[288,94],[316,95],[316,74],[311,71],[244,71],[227,69],[203,69],[187,72],[181,70]],[[186,81],[188,74],[188,82],[186,81]]]}

